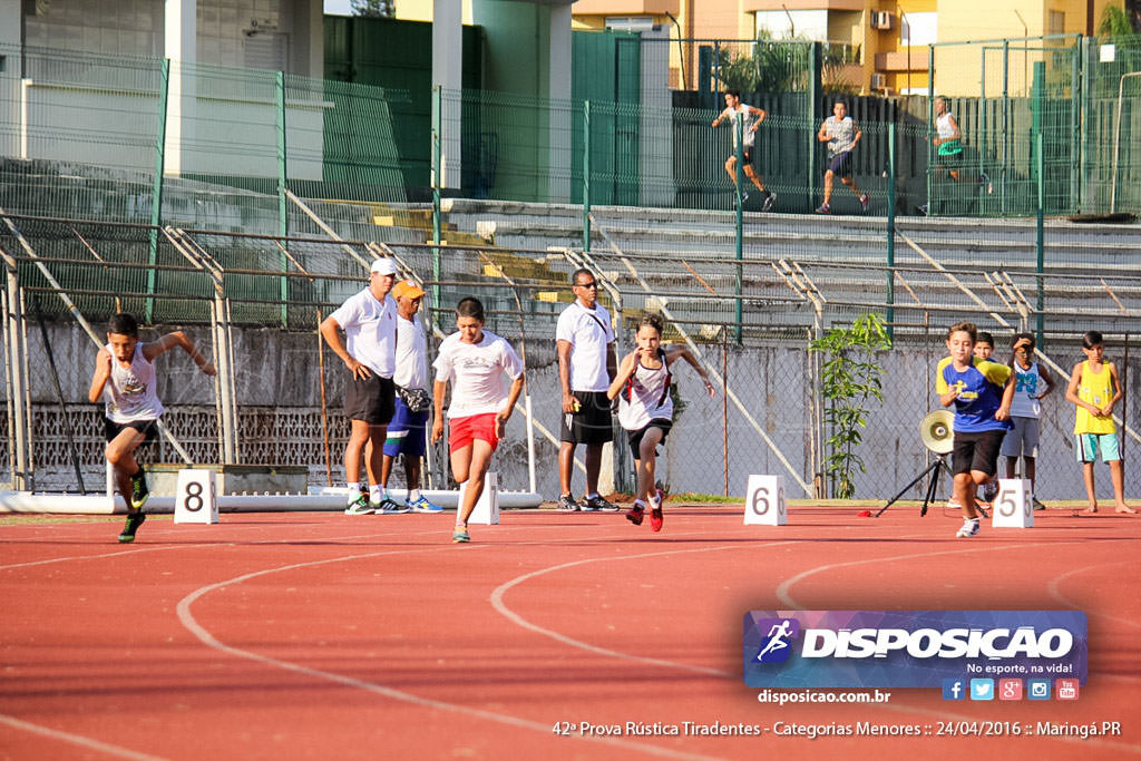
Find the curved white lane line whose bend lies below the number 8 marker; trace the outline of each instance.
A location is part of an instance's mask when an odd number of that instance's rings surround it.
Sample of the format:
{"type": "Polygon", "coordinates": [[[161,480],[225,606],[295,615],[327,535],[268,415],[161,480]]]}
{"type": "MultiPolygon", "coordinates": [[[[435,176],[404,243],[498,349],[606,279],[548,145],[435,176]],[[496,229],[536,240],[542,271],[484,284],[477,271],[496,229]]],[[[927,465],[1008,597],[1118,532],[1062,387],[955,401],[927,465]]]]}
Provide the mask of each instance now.
{"type": "MultiPolygon", "coordinates": [[[[459,551],[461,551],[461,552],[470,552],[472,550],[491,549],[493,547],[496,547],[496,545],[477,544],[475,547],[468,547],[468,548],[464,548],[464,549],[459,550],[459,551]]],[[[500,547],[505,547],[505,545],[500,545],[500,547]]],[[[464,717],[469,717],[469,718],[474,718],[474,719],[483,719],[483,720],[486,720],[486,721],[494,721],[494,722],[497,722],[497,723],[501,723],[501,724],[507,724],[507,726],[516,727],[516,728],[519,728],[519,729],[529,729],[529,730],[540,731],[540,732],[548,734],[548,735],[551,734],[551,724],[550,723],[541,723],[541,722],[537,722],[537,721],[532,721],[529,719],[520,719],[518,717],[512,717],[512,715],[505,714],[505,713],[496,713],[496,712],[493,712],[493,711],[485,711],[483,709],[475,709],[475,707],[471,707],[471,706],[468,706],[468,705],[459,705],[459,704],[455,704],[455,703],[445,703],[444,701],[436,701],[436,699],[432,699],[432,698],[420,697],[419,695],[413,695],[411,693],[405,693],[404,690],[398,690],[398,689],[393,688],[393,687],[386,687],[383,685],[377,685],[374,682],[369,682],[369,681],[364,681],[362,679],[355,679],[353,677],[346,677],[343,674],[337,674],[337,673],[332,673],[332,672],[329,672],[329,671],[322,671],[319,669],[310,669],[308,666],[302,666],[300,664],[291,663],[289,661],[281,661],[278,658],[274,658],[274,657],[270,657],[270,656],[267,656],[267,655],[261,655],[259,653],[253,653],[251,650],[243,650],[241,648],[236,648],[236,647],[233,647],[230,645],[226,645],[225,642],[219,641],[213,634],[210,633],[209,630],[207,630],[204,626],[202,626],[197,622],[197,620],[194,618],[194,615],[191,613],[191,606],[196,600],[199,600],[200,598],[202,598],[203,596],[209,594],[211,592],[215,592],[217,590],[224,589],[224,588],[229,586],[232,584],[241,584],[243,582],[250,581],[251,578],[258,578],[259,576],[267,576],[269,574],[276,574],[276,573],[281,573],[281,572],[284,572],[284,570],[296,570],[296,569],[299,569],[299,568],[313,568],[313,567],[316,567],[316,566],[327,565],[327,564],[332,564],[332,562],[346,562],[346,561],[350,561],[350,560],[363,560],[363,559],[367,559],[367,558],[377,558],[377,557],[381,557],[381,556],[407,554],[407,553],[411,553],[411,552],[455,552],[455,551],[458,551],[458,550],[455,548],[452,548],[451,545],[443,547],[443,548],[440,548],[440,547],[437,547],[437,548],[424,548],[422,550],[385,550],[385,551],[379,551],[379,552],[367,552],[367,553],[363,553],[363,554],[350,554],[350,556],[345,556],[345,557],[340,557],[340,558],[326,558],[326,559],[323,559],[323,560],[310,560],[310,561],[307,561],[307,562],[296,562],[296,564],[291,564],[291,565],[286,565],[286,566],[280,566],[277,568],[266,568],[266,569],[262,569],[262,570],[254,570],[254,572],[251,572],[251,573],[248,573],[248,574],[243,574],[241,576],[235,576],[233,578],[228,578],[226,581],[217,582],[215,584],[208,584],[207,586],[201,586],[201,588],[196,589],[195,591],[191,592],[189,594],[187,594],[186,597],[184,597],[181,600],[178,601],[178,607],[177,607],[178,620],[179,620],[179,622],[181,622],[183,626],[185,626],[192,634],[194,634],[195,637],[197,637],[199,640],[203,645],[205,645],[207,647],[213,648],[213,649],[219,650],[221,653],[226,653],[228,655],[233,655],[235,657],[246,658],[249,661],[254,661],[257,663],[261,663],[261,664],[265,664],[265,665],[268,665],[268,666],[274,666],[276,669],[282,669],[284,671],[291,671],[291,672],[294,672],[294,673],[305,674],[307,677],[313,677],[315,679],[324,679],[326,681],[331,681],[331,682],[334,682],[337,685],[342,685],[345,687],[353,687],[353,688],[356,688],[356,689],[362,689],[362,690],[365,690],[365,691],[369,691],[369,693],[373,693],[375,695],[380,695],[380,696],[383,696],[383,697],[387,697],[387,698],[390,698],[390,699],[394,699],[394,701],[400,701],[403,703],[410,703],[412,705],[419,705],[419,706],[426,707],[426,709],[436,709],[438,711],[450,711],[450,712],[453,712],[453,713],[462,714],[464,717]]],[[[569,739],[580,739],[580,740],[586,740],[586,742],[592,742],[592,743],[601,743],[601,744],[605,744],[605,745],[613,745],[613,746],[616,746],[616,747],[621,747],[621,748],[623,748],[625,751],[637,751],[639,753],[645,753],[645,754],[648,754],[648,755],[657,755],[657,756],[669,758],[669,759],[693,759],[695,761],[706,761],[709,759],[715,759],[717,758],[717,756],[699,755],[699,754],[694,754],[694,753],[685,753],[685,752],[681,752],[681,751],[674,751],[672,748],[663,748],[663,747],[657,747],[657,746],[653,746],[653,745],[644,745],[644,744],[640,744],[640,743],[634,743],[634,742],[631,742],[631,740],[617,739],[617,738],[613,738],[613,737],[590,737],[590,736],[580,737],[580,736],[572,736],[569,739]]]]}

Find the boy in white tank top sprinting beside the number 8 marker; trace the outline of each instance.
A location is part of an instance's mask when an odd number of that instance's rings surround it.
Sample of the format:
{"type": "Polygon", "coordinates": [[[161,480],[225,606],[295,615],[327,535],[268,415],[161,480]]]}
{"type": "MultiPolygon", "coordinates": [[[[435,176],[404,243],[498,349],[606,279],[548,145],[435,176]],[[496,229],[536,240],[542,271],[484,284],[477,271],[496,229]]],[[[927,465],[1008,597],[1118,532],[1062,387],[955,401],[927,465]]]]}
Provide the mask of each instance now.
{"type": "Polygon", "coordinates": [[[164,412],[155,388],[154,358],[164,351],[183,347],[207,375],[216,374],[209,362],[186,333],[175,331],[157,341],[139,342],[135,317],[118,314],[107,325],[107,345],[95,358],[95,373],[87,398],[105,403],[107,462],[114,469],[115,485],[127,503],[127,525],[120,542],[133,542],[135,532],[146,520],[143,505],[151,495],[146,475],[135,460],[135,450],[155,438],[155,421],[164,412]]]}

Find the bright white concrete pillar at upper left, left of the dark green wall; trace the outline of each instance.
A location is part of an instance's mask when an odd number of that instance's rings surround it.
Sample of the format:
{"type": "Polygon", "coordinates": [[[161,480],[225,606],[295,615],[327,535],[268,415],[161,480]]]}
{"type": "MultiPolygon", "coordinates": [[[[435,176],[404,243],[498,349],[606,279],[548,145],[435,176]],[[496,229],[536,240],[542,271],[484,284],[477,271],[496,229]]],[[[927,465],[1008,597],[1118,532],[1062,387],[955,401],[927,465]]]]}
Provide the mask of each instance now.
{"type": "Polygon", "coordinates": [[[163,173],[180,175],[189,170],[183,155],[184,144],[192,140],[196,100],[196,72],[199,59],[199,3],[197,0],[164,0],[164,52],[170,58],[170,89],[167,103],[167,151],[163,173]],[[185,64],[185,65],[184,65],[185,64]]]}

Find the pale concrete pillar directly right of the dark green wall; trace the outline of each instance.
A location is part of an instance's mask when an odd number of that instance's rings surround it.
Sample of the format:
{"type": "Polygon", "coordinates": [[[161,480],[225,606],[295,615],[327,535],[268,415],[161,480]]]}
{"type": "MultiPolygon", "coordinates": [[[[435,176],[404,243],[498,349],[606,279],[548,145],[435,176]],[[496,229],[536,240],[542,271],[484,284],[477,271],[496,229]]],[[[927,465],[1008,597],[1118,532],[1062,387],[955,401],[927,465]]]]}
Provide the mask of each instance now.
{"type": "Polygon", "coordinates": [[[463,3],[461,0],[434,0],[431,24],[431,83],[443,89],[440,107],[440,187],[462,185],[461,90],[463,89],[463,3]]]}

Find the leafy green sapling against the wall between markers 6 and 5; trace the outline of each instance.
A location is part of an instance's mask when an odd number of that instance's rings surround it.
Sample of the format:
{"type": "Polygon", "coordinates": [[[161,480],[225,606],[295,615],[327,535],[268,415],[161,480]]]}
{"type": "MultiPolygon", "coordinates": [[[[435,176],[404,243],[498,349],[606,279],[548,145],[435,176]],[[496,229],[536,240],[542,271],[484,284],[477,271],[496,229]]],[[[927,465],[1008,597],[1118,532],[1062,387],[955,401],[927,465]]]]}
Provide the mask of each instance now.
{"type": "Polygon", "coordinates": [[[857,471],[865,472],[857,450],[864,442],[867,404],[883,400],[883,371],[875,353],[890,348],[883,318],[872,313],[858,317],[851,327],[833,327],[809,345],[809,350],[827,355],[820,377],[825,422],[832,429],[825,468],[841,500],[851,499],[857,471]]]}

